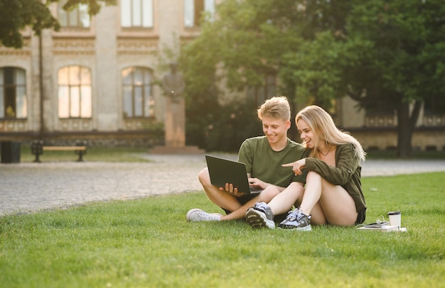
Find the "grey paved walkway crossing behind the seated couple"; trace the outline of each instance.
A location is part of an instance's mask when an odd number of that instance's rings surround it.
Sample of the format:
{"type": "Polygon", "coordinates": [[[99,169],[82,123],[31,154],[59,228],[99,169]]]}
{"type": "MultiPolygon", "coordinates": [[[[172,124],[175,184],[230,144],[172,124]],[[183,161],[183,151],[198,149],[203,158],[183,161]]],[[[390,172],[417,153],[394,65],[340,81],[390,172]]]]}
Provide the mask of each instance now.
{"type": "MultiPolygon", "coordinates": [[[[236,159],[236,155],[221,157],[236,159]]],[[[0,164],[0,216],[91,201],[137,199],[202,190],[203,155],[149,155],[151,162],[0,164]]],[[[368,160],[363,177],[445,171],[445,160],[368,160]]]]}

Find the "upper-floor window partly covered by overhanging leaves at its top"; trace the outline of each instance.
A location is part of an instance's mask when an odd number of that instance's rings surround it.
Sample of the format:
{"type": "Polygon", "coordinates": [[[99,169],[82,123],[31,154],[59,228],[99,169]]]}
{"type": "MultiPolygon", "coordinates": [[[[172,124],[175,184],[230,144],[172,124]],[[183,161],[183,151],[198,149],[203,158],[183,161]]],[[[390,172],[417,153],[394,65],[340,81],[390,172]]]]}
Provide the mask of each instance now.
{"type": "Polygon", "coordinates": [[[78,4],[72,11],[63,10],[68,0],[60,0],[58,5],[58,21],[62,27],[89,28],[90,15],[86,4],[78,4]]]}

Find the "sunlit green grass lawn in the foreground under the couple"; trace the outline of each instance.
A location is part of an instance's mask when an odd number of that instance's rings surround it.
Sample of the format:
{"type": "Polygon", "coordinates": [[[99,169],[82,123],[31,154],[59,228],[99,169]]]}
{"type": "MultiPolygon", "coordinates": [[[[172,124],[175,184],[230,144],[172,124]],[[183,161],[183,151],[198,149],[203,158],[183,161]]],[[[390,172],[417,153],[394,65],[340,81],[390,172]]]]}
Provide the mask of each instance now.
{"type": "Polygon", "coordinates": [[[0,217],[0,287],[445,287],[445,172],[363,178],[365,223],[407,233],[188,223],[203,192],[0,217]]]}

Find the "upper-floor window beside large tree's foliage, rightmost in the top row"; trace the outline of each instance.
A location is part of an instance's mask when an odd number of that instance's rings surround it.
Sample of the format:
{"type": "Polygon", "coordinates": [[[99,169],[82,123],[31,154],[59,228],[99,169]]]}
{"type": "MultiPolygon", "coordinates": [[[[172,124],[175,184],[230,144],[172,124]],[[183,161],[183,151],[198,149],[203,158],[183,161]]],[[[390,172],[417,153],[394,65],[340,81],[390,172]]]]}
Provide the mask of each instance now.
{"type": "Polygon", "coordinates": [[[199,26],[204,12],[210,13],[209,21],[215,16],[215,0],[184,0],[184,26],[193,28],[199,26]]]}

